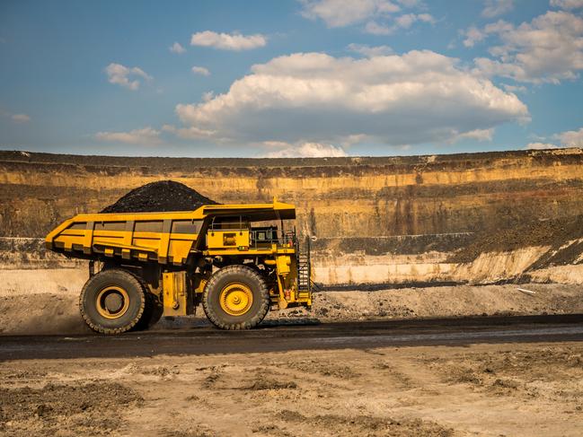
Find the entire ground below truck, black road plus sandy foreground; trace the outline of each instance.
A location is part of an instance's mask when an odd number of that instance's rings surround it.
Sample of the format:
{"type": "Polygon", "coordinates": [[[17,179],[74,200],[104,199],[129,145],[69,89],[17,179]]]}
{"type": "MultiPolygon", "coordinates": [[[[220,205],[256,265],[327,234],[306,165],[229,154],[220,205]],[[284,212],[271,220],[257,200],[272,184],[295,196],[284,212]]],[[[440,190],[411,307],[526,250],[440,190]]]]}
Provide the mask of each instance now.
{"type": "Polygon", "coordinates": [[[4,435],[580,435],[583,316],[0,337],[4,435]]]}

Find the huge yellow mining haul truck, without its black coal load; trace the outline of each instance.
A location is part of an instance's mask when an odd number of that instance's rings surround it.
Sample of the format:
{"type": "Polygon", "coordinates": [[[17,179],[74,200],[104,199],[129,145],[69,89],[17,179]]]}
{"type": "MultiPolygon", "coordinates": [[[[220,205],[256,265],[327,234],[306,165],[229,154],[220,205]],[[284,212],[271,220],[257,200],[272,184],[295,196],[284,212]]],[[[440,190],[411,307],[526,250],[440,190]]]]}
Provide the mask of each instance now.
{"type": "Polygon", "coordinates": [[[309,240],[294,205],[202,205],[191,212],[78,214],[47,248],[89,260],[79,307],[102,334],[146,329],[202,304],[223,329],[257,326],[269,310],[312,304],[309,240]],[[278,227],[279,225],[279,227],[278,227]],[[287,231],[286,231],[287,229],[287,231]]]}

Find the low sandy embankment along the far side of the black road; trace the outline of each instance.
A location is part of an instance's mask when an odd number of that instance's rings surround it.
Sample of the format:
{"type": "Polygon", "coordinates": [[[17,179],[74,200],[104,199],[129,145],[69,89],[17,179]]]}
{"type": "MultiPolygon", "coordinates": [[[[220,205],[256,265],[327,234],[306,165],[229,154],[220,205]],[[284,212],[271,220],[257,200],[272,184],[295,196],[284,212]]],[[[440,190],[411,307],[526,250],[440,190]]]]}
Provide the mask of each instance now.
{"type": "MultiPolygon", "coordinates": [[[[87,278],[85,268],[1,270],[0,332],[10,334],[88,333],[79,315],[78,297],[87,278]]],[[[568,284],[456,285],[403,288],[375,292],[322,292],[314,295],[312,311],[271,312],[268,320],[339,321],[461,317],[494,314],[583,313],[583,288],[568,284]]],[[[162,320],[159,327],[206,323],[196,317],[162,320]]]]}

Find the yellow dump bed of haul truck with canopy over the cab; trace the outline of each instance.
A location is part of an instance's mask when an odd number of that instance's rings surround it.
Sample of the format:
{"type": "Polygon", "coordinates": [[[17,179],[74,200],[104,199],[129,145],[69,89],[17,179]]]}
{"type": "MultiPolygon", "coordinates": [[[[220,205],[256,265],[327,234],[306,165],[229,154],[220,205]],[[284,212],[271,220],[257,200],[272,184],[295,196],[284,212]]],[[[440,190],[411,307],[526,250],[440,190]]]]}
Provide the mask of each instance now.
{"type": "Polygon", "coordinates": [[[295,218],[293,205],[204,205],[190,212],[78,214],[47,235],[47,249],[75,258],[123,258],[184,264],[209,216],[246,214],[254,220],[295,218]]]}

